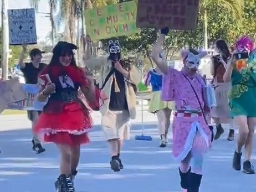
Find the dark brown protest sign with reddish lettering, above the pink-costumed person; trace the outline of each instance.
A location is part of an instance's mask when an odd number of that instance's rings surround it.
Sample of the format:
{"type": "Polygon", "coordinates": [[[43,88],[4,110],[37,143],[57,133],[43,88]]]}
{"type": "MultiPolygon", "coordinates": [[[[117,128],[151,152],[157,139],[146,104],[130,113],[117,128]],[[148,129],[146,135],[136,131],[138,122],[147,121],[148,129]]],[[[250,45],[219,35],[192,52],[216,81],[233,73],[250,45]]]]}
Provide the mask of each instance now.
{"type": "Polygon", "coordinates": [[[137,28],[196,28],[199,0],[138,0],[137,28]]]}

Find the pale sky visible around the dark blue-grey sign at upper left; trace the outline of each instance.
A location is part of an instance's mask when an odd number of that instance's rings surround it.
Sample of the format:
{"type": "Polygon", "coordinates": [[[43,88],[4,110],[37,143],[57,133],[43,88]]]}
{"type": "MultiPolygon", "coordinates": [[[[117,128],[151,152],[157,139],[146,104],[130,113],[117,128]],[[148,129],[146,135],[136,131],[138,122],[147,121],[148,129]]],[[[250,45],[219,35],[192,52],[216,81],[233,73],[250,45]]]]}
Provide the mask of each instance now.
{"type": "MultiPolygon", "coordinates": [[[[0,7],[2,7],[2,2],[0,2],[0,7]]],[[[41,0],[39,3],[39,12],[49,13],[48,0],[41,0]]],[[[29,0],[8,0],[8,9],[22,9],[31,8],[29,0]]],[[[1,14],[0,14],[1,18],[1,14]]],[[[50,19],[45,17],[43,14],[35,13],[35,20],[37,25],[37,36],[38,41],[45,40],[45,37],[50,32],[50,19]]],[[[1,22],[0,22],[1,23],[1,22]]]]}

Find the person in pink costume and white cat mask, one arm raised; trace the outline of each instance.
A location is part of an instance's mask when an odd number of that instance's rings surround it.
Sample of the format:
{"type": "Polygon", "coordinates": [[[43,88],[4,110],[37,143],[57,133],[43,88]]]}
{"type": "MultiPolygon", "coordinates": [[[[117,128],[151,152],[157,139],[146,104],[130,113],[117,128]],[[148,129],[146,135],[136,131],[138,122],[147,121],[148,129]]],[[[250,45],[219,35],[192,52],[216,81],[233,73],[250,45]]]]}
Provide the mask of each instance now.
{"type": "Polygon", "coordinates": [[[161,29],[152,50],[152,59],[164,74],[162,100],[175,101],[173,118],[173,157],[179,167],[183,191],[198,192],[202,179],[203,154],[212,144],[212,131],[208,126],[209,107],[206,105],[203,77],[198,74],[201,58],[206,51],[182,50],[184,67],[177,71],[169,67],[159,54],[169,29],[161,29]],[[192,88],[193,87],[193,88],[192,88]]]}

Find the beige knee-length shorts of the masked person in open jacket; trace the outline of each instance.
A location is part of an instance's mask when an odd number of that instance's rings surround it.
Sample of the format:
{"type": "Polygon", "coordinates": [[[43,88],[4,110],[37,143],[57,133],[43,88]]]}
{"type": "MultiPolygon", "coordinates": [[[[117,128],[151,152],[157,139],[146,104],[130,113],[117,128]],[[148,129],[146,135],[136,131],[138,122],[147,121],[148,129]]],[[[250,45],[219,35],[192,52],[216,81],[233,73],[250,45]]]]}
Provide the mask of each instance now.
{"type": "Polygon", "coordinates": [[[129,140],[131,119],[129,111],[108,111],[101,118],[106,141],[111,139],[129,140]]]}

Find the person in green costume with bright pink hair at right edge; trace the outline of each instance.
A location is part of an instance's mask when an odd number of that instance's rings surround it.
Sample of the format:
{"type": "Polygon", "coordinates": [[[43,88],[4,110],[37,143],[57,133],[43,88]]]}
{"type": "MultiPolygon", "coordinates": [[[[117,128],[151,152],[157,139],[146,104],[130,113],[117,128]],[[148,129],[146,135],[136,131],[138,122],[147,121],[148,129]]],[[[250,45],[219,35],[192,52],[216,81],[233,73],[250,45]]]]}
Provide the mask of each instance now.
{"type": "Polygon", "coordinates": [[[243,172],[254,174],[250,157],[253,150],[256,123],[256,50],[253,50],[254,41],[246,36],[238,39],[235,46],[235,51],[223,76],[225,82],[232,82],[229,107],[231,116],[239,128],[237,149],[233,157],[233,169],[241,169],[242,147],[244,146],[243,172]],[[240,55],[248,53],[249,59],[246,57],[239,58],[239,55],[235,53],[243,53],[240,55]]]}

